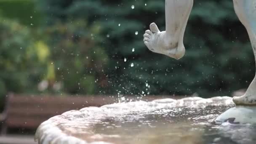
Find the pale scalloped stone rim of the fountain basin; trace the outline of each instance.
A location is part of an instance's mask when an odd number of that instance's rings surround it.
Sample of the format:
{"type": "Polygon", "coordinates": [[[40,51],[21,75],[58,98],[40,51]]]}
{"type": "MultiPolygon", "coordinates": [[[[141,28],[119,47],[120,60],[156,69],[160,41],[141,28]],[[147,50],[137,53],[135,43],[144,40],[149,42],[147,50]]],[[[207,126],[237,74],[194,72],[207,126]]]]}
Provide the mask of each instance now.
{"type": "MultiPolygon", "coordinates": [[[[201,97],[186,97],[183,99],[179,99],[179,100],[175,100],[175,99],[157,99],[154,101],[131,101],[131,102],[123,102],[123,103],[114,103],[114,104],[107,104],[101,107],[85,107],[83,109],[80,110],[71,110],[68,112],[64,112],[61,115],[56,115],[54,117],[51,117],[50,119],[46,120],[45,122],[41,123],[40,126],[37,128],[37,131],[35,133],[35,141],[38,141],[39,144],[48,144],[51,142],[51,144],[59,144],[67,142],[68,144],[96,144],[96,143],[87,143],[86,141],[82,140],[82,139],[78,139],[74,136],[68,135],[64,132],[62,132],[57,125],[59,125],[58,121],[59,119],[65,119],[67,118],[65,115],[68,114],[72,114],[75,112],[79,112],[79,113],[84,113],[84,112],[90,112],[90,109],[97,109],[98,112],[100,112],[100,110],[102,109],[109,109],[112,107],[116,107],[120,104],[126,104],[129,106],[129,104],[133,104],[134,106],[136,104],[147,104],[148,106],[153,106],[153,107],[157,107],[160,106],[161,107],[166,107],[169,104],[175,104],[176,107],[179,105],[179,102],[184,104],[184,102],[186,101],[193,101],[193,104],[209,104],[209,103],[213,103],[213,101],[216,100],[222,100],[222,101],[226,101],[226,103],[229,104],[233,104],[232,103],[232,98],[229,96],[216,96],[216,97],[212,97],[212,98],[208,98],[208,99],[204,99],[201,97]],[[154,105],[155,104],[155,105],[154,105]]],[[[192,106],[192,105],[191,105],[192,106]]],[[[207,105],[205,105],[206,107],[207,105]]],[[[171,106],[172,108],[174,108],[173,106],[171,106]]],[[[168,108],[168,107],[167,107],[168,108]]],[[[129,111],[128,111],[129,112],[129,111]]],[[[130,111],[132,112],[132,111],[130,111]]],[[[107,117],[106,117],[107,118],[107,117]]],[[[99,142],[98,142],[99,143],[99,142]]],[[[100,144],[109,144],[106,142],[100,142],[100,144]]]]}

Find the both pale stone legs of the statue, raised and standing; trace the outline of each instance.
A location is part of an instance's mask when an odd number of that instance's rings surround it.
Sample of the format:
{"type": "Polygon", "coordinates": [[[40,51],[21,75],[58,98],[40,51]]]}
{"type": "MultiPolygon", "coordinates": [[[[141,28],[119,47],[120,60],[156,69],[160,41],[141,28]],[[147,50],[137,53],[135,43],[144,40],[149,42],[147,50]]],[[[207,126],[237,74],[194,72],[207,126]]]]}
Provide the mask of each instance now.
{"type": "MultiPolygon", "coordinates": [[[[233,0],[235,12],[248,31],[256,56],[256,0],[233,0]]],[[[160,32],[155,23],[144,34],[144,43],[150,51],[180,59],[185,54],[183,44],[193,0],[165,0],[166,31],[160,32]]],[[[241,49],[242,50],[242,49],[241,49]]],[[[234,97],[236,105],[256,105],[256,77],[243,96],[234,97]]]]}

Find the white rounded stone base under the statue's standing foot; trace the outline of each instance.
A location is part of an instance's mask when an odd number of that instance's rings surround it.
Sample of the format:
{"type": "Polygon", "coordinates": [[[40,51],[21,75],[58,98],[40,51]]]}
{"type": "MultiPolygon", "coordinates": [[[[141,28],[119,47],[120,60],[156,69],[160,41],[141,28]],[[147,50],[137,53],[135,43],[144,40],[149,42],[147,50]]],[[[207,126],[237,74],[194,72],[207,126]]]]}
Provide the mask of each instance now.
{"type": "Polygon", "coordinates": [[[216,124],[256,124],[256,106],[237,106],[228,109],[215,120],[216,124]]]}

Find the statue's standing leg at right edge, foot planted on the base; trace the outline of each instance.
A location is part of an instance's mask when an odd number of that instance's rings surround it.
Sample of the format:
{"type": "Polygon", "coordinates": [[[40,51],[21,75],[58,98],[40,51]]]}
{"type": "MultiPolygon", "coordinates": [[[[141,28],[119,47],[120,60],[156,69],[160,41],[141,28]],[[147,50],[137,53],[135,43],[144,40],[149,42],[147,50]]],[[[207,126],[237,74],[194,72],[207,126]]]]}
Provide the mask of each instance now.
{"type": "MultiPolygon", "coordinates": [[[[233,0],[235,12],[249,34],[256,56],[256,0],[233,0]]],[[[245,69],[246,70],[246,69],[245,69]]],[[[234,97],[235,104],[256,105],[256,77],[243,96],[234,97]]]]}

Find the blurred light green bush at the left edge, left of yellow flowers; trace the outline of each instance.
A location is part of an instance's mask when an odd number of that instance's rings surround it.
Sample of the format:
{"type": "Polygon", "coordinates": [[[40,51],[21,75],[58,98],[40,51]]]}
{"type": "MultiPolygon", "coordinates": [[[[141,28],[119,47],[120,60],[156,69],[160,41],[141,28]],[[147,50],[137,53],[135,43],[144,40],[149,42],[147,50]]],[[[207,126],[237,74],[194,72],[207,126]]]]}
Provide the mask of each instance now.
{"type": "Polygon", "coordinates": [[[31,36],[28,27],[0,18],[0,96],[35,88],[43,65],[37,60],[31,36]]]}

